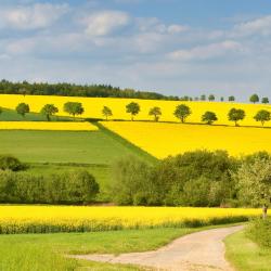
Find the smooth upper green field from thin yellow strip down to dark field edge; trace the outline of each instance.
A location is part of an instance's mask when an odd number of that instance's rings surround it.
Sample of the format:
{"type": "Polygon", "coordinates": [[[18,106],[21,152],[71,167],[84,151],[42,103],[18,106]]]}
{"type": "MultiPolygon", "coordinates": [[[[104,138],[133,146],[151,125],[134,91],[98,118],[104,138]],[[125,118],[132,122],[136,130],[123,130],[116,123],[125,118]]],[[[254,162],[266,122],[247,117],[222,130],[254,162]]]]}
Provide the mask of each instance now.
{"type": "Polygon", "coordinates": [[[94,165],[111,165],[119,157],[137,155],[101,131],[0,131],[0,153],[25,163],[94,165]]]}

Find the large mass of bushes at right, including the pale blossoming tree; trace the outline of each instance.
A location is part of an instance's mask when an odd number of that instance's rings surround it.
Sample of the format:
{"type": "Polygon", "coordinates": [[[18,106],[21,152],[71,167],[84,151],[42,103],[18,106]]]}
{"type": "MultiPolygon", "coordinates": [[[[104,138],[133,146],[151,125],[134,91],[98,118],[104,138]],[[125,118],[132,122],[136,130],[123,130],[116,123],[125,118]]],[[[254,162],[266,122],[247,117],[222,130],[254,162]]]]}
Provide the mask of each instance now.
{"type": "Polygon", "coordinates": [[[150,165],[122,158],[114,166],[113,197],[120,205],[262,206],[271,201],[271,156],[241,159],[224,151],[195,151],[150,165]]]}

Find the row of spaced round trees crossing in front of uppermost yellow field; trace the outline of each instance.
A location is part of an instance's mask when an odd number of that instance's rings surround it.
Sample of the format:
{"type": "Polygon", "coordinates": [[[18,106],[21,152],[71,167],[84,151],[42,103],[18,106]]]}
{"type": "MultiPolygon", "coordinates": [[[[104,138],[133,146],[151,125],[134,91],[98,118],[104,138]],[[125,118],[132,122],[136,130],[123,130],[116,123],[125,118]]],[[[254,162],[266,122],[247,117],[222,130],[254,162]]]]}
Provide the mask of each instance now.
{"type": "MultiPolygon", "coordinates": [[[[23,117],[25,117],[25,115],[30,112],[30,107],[26,103],[20,103],[15,109],[17,114],[22,115],[23,117]]],[[[132,121],[134,120],[134,116],[140,113],[140,105],[136,102],[131,102],[126,105],[126,112],[131,115],[132,121]]],[[[82,115],[85,108],[79,102],[66,102],[63,106],[63,111],[75,118],[75,116],[82,115]]],[[[0,114],[1,113],[2,109],[0,107],[0,114]]],[[[59,113],[59,108],[54,104],[46,104],[41,108],[40,113],[46,116],[48,121],[50,121],[51,117],[59,113]]],[[[102,115],[106,120],[108,120],[108,117],[113,116],[113,112],[108,106],[104,106],[102,109],[102,115]]],[[[162,116],[162,108],[158,106],[154,106],[150,109],[149,115],[154,117],[154,121],[158,121],[162,116]]],[[[186,118],[192,115],[192,111],[186,104],[180,104],[176,106],[173,115],[176,116],[176,118],[180,119],[182,124],[184,124],[186,121],[186,118]]],[[[242,108],[231,108],[228,113],[228,119],[230,121],[234,121],[235,126],[238,126],[238,121],[244,120],[245,117],[246,113],[242,108]]],[[[256,113],[254,119],[256,121],[260,121],[263,126],[267,121],[271,120],[271,113],[267,109],[260,109],[256,113]]],[[[217,120],[218,117],[215,112],[207,111],[202,115],[202,121],[207,125],[212,125],[217,120]]]]}

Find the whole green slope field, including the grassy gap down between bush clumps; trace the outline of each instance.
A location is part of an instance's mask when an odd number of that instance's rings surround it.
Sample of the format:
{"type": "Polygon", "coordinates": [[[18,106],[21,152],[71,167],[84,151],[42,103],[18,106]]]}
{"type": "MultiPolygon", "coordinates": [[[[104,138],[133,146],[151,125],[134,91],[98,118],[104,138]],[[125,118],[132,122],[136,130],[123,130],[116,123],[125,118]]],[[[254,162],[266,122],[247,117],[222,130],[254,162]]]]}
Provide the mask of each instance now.
{"type": "Polygon", "coordinates": [[[100,184],[98,202],[109,202],[111,166],[125,156],[156,160],[121,138],[100,131],[0,131],[0,154],[29,164],[28,172],[51,175],[86,169],[100,184]]]}

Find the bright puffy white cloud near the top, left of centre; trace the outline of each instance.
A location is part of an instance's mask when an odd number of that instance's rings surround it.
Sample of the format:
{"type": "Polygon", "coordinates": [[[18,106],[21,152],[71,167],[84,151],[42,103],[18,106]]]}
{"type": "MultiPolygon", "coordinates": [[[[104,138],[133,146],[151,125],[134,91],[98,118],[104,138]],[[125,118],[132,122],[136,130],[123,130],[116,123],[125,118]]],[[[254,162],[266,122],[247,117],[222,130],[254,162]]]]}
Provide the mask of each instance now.
{"type": "Polygon", "coordinates": [[[83,22],[87,25],[86,34],[89,36],[106,36],[128,25],[130,17],[125,12],[104,11],[91,14],[83,22]]]}

